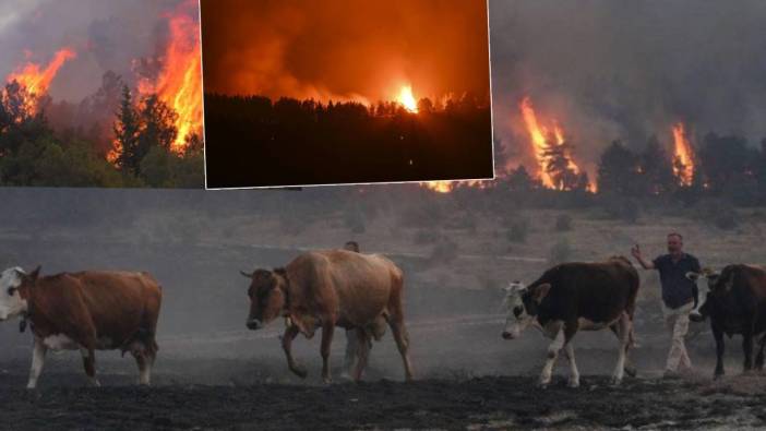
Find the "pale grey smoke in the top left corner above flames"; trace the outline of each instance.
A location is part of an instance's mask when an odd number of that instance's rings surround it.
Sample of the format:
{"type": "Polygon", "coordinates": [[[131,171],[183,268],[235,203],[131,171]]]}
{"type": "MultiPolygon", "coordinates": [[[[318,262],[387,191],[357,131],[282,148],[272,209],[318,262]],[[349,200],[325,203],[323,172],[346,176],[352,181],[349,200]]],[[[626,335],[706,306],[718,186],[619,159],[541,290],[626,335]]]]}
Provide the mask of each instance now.
{"type": "Polygon", "coordinates": [[[80,101],[106,71],[131,83],[135,59],[156,53],[165,14],[180,0],[4,0],[0,4],[0,79],[20,64],[47,64],[70,47],[77,58],[51,83],[53,100],[80,101]]]}

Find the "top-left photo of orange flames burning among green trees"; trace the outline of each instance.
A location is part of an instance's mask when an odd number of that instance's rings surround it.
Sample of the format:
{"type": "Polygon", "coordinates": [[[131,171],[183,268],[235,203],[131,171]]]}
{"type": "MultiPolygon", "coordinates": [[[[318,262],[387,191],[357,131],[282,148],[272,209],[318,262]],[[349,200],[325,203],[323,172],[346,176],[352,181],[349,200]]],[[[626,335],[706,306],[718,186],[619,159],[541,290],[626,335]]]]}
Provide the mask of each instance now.
{"type": "Polygon", "coordinates": [[[204,188],[199,1],[0,16],[0,185],[204,188]]]}

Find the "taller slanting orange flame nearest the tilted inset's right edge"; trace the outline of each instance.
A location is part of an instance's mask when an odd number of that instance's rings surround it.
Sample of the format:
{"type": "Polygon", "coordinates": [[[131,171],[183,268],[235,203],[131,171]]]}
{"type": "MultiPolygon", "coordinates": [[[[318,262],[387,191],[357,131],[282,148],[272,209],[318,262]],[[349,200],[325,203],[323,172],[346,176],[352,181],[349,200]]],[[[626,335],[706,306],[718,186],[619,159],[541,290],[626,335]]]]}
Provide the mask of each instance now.
{"type": "MultiPolygon", "coordinates": [[[[522,110],[522,117],[524,118],[524,124],[526,125],[527,133],[529,133],[535,158],[537,159],[538,175],[540,176],[542,184],[549,189],[561,190],[563,185],[556,184],[551,173],[548,172],[547,166],[549,163],[549,156],[547,151],[551,145],[563,145],[566,142],[564,130],[555,121],[553,121],[553,127],[550,130],[542,125],[538,121],[537,112],[535,111],[529,97],[522,99],[519,108],[522,110]],[[550,142],[551,140],[553,142],[550,142]]],[[[565,154],[565,157],[568,169],[575,175],[579,175],[579,166],[577,166],[577,164],[575,164],[575,161],[572,159],[572,155],[565,154]]],[[[588,189],[591,191],[595,190],[593,184],[588,184],[588,189]]]]}

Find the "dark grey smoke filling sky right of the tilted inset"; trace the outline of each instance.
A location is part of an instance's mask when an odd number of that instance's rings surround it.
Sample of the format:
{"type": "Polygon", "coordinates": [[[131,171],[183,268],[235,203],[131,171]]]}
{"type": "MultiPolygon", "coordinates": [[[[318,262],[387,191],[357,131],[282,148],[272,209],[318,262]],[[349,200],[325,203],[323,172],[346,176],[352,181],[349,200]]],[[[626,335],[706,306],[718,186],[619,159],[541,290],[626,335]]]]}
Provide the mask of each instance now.
{"type": "Polygon", "coordinates": [[[637,148],[656,134],[669,144],[678,121],[697,140],[715,131],[757,144],[766,136],[764,22],[758,0],[490,0],[498,136],[526,160],[518,101],[528,95],[590,167],[615,139],[637,148]]]}

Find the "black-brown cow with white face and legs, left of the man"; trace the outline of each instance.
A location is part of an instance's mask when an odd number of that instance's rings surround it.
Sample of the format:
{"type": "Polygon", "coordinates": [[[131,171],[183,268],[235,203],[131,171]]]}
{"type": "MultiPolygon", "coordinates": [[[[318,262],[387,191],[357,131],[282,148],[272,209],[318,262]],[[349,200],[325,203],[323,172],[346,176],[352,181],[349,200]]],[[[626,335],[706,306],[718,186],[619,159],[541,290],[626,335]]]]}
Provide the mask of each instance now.
{"type": "Polygon", "coordinates": [[[540,375],[547,386],[559,352],[570,362],[568,386],[579,386],[572,338],[577,331],[610,328],[620,340],[612,383],[619,384],[627,367],[627,349],[633,340],[633,312],[638,292],[638,273],[625,258],[602,263],[565,263],[548,271],[525,287],[519,282],[506,288],[507,318],[503,338],[518,338],[529,325],[553,339],[540,375]]]}

